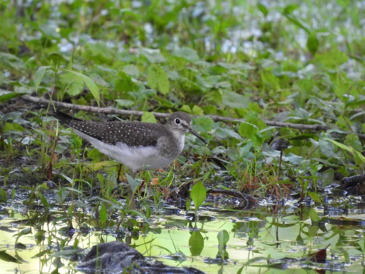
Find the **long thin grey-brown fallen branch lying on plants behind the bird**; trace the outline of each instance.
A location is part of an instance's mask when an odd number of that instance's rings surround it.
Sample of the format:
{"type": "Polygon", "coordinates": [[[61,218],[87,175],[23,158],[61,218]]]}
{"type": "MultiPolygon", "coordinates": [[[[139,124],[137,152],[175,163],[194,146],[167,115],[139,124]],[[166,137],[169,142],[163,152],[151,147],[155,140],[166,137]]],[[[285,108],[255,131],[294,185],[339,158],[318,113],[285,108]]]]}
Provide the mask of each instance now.
{"type": "MultiPolygon", "coordinates": [[[[0,89],[0,91],[1,91],[1,89],[0,89]]],[[[38,97],[34,97],[34,96],[29,96],[29,95],[23,95],[20,98],[27,100],[29,102],[41,104],[43,106],[48,106],[49,104],[53,104],[57,108],[71,109],[71,110],[77,110],[77,111],[87,111],[87,112],[92,112],[92,113],[117,114],[117,115],[127,115],[127,116],[134,115],[134,116],[138,116],[138,117],[143,115],[143,111],[121,110],[121,109],[114,109],[111,107],[82,106],[82,105],[78,105],[78,104],[69,104],[69,103],[64,103],[64,102],[50,101],[50,100],[46,100],[46,99],[42,99],[42,98],[38,98],[38,97]]],[[[168,114],[168,113],[160,113],[160,112],[154,112],[154,111],[152,111],[152,113],[157,118],[167,118],[170,116],[170,114],[168,114]]],[[[221,122],[245,122],[245,119],[239,119],[239,118],[221,117],[218,115],[206,115],[206,116],[212,118],[212,120],[214,122],[220,122],[220,121],[221,122]]],[[[292,128],[292,129],[299,129],[299,130],[326,131],[326,130],[330,129],[330,127],[328,127],[328,126],[319,125],[319,124],[305,125],[305,124],[296,124],[296,123],[275,122],[275,121],[269,121],[269,120],[264,120],[264,123],[265,123],[265,125],[268,125],[268,126],[277,126],[279,128],[292,128]]],[[[350,132],[350,131],[346,131],[346,132],[343,131],[343,134],[349,134],[349,133],[353,133],[361,138],[365,138],[365,134],[360,134],[360,133],[350,132]]]]}

